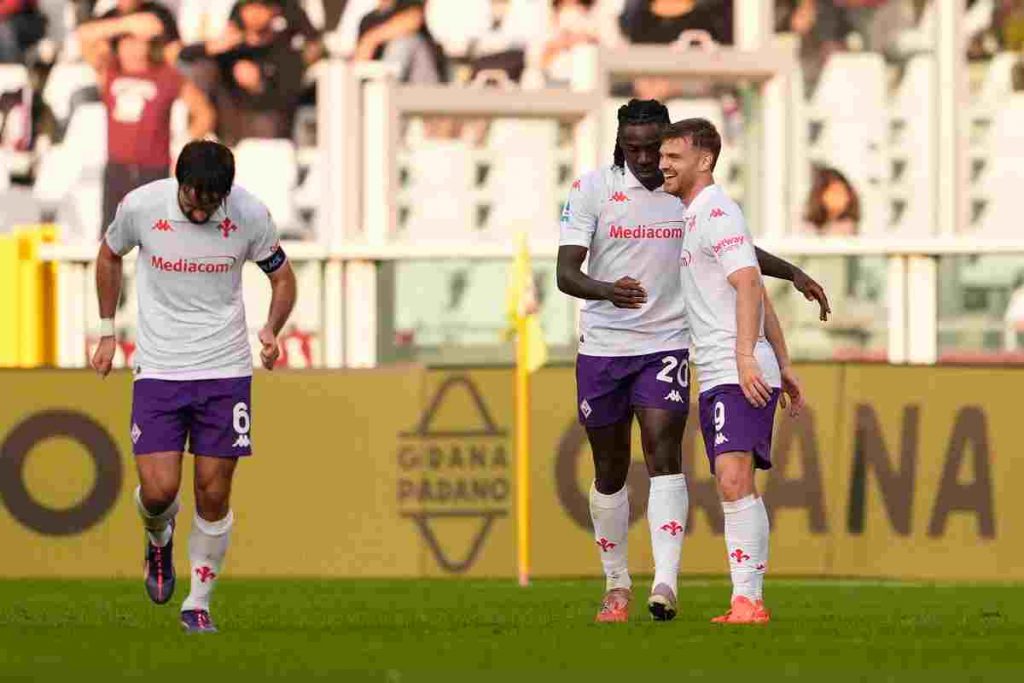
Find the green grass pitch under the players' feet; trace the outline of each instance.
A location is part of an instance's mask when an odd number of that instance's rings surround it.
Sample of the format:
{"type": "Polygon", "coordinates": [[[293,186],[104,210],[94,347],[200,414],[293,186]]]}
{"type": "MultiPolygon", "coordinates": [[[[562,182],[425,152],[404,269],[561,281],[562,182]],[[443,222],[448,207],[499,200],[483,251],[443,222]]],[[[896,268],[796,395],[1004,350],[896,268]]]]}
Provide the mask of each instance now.
{"type": "Polygon", "coordinates": [[[647,582],[637,581],[632,622],[596,625],[601,589],[225,578],[214,603],[221,633],[185,636],[182,594],[158,607],[141,581],[2,581],[0,679],[877,683],[1024,672],[1024,591],[1010,584],[769,579],[774,621],[764,627],[709,624],[728,599],[718,580],[684,582],[681,613],[667,624],[649,621],[647,582]]]}

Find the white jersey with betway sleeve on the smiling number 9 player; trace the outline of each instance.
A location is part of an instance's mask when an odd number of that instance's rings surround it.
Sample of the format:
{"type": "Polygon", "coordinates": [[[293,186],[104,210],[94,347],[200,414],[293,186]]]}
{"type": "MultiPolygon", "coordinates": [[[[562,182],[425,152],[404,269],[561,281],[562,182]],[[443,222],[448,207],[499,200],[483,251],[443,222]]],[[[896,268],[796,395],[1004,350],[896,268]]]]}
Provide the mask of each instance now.
{"type": "MultiPolygon", "coordinates": [[[[684,217],[683,296],[693,335],[700,391],[739,384],[736,370],[736,291],[728,276],[758,266],[754,239],[739,206],[718,185],[700,190],[684,217]]],[[[764,311],[754,355],[769,386],[782,385],[778,360],[765,339],[764,311]]]]}

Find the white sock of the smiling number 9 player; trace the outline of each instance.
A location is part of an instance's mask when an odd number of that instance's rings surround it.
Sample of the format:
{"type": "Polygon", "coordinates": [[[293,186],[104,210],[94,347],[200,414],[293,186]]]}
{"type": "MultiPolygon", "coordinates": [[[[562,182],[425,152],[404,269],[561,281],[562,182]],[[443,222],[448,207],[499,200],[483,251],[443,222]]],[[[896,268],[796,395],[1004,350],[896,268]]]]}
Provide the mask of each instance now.
{"type": "Polygon", "coordinates": [[[748,496],[722,503],[725,512],[725,547],[729,552],[732,597],[762,598],[768,566],[768,512],[764,501],[748,496]]]}

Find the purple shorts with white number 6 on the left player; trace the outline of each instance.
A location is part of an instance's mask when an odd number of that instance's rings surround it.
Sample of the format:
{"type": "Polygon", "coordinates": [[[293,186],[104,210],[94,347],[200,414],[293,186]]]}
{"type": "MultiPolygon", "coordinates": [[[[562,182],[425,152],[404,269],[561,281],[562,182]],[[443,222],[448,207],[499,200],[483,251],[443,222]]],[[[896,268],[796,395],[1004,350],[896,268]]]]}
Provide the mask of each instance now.
{"type": "Polygon", "coordinates": [[[252,455],[252,378],[136,380],[131,440],[136,456],[183,453],[238,458],[252,455]]]}

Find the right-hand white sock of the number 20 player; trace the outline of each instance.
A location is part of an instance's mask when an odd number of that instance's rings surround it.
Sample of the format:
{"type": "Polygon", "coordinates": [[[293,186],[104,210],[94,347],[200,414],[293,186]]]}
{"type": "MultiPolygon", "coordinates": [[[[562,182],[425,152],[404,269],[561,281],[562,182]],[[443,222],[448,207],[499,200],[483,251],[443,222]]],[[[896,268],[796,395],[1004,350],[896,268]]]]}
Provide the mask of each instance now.
{"type": "Polygon", "coordinates": [[[669,474],[651,478],[647,498],[647,525],[654,554],[654,583],[651,589],[665,584],[673,593],[676,592],[689,507],[686,475],[669,474]]]}

